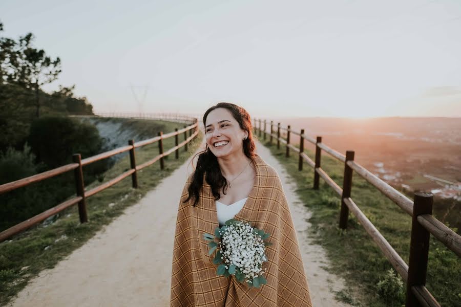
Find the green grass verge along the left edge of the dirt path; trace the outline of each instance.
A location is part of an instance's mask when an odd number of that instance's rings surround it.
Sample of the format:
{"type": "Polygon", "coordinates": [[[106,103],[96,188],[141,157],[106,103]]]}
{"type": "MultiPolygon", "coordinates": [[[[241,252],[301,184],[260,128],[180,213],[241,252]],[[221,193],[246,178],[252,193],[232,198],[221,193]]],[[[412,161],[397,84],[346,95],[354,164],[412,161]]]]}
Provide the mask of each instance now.
{"type": "MultiPolygon", "coordinates": [[[[137,125],[141,125],[142,121],[137,125]]],[[[163,123],[164,133],[181,128],[183,124],[163,123]]],[[[156,136],[156,134],[154,135],[156,136]]],[[[152,136],[152,137],[154,137],[152,136]]],[[[146,192],[156,187],[165,177],[181,166],[200,145],[201,132],[188,144],[188,150],[180,148],[179,159],[173,152],[164,160],[165,168],[160,170],[160,161],[138,172],[138,188],[132,188],[131,176],[87,199],[88,223],[80,224],[77,206],[72,206],[56,215],[48,226],[40,223],[17,234],[11,240],[0,243],[0,305],[8,303],[29,280],[44,269],[53,268],[59,260],[82,246],[104,225],[108,225],[123,210],[136,204],[146,192]],[[111,206],[109,206],[111,204],[111,206]]],[[[180,138],[181,142],[184,138],[180,138]]],[[[138,140],[137,140],[138,141],[138,140]]],[[[174,147],[174,137],[164,140],[164,151],[174,147]]],[[[136,148],[136,163],[139,165],[158,155],[157,143],[136,148]]],[[[86,158],[86,157],[82,157],[86,158]]],[[[129,156],[125,156],[103,174],[106,182],[123,171],[130,169],[129,156]]],[[[85,170],[85,167],[83,167],[85,170]]],[[[100,182],[90,184],[91,189],[100,182]]]]}

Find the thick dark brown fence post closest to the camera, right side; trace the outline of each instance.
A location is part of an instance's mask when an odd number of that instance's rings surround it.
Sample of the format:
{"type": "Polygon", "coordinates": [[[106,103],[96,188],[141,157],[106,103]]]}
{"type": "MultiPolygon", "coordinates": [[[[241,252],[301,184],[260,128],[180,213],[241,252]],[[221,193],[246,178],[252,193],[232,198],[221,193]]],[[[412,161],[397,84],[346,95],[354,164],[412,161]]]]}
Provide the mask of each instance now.
{"type": "Polygon", "coordinates": [[[420,306],[416,296],[411,291],[411,287],[426,285],[430,236],[429,231],[418,222],[417,217],[421,214],[432,214],[432,204],[433,195],[431,193],[414,193],[405,307],[420,306]]]}

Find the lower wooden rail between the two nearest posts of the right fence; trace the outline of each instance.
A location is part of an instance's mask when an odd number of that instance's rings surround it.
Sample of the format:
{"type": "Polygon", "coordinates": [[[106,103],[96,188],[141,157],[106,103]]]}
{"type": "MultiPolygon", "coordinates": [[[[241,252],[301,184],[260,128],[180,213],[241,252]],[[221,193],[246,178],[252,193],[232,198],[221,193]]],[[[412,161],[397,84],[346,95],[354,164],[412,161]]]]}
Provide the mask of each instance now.
{"type": "Polygon", "coordinates": [[[402,257],[397,254],[393,247],[387,242],[386,238],[374,227],[374,225],[368,220],[362,210],[359,209],[357,205],[352,201],[351,198],[344,198],[344,203],[346,203],[349,210],[357,217],[357,220],[362,224],[368,234],[371,236],[373,241],[378,244],[381,251],[383,251],[386,258],[394,267],[403,280],[407,282],[408,279],[408,265],[402,259],[402,257]]]}

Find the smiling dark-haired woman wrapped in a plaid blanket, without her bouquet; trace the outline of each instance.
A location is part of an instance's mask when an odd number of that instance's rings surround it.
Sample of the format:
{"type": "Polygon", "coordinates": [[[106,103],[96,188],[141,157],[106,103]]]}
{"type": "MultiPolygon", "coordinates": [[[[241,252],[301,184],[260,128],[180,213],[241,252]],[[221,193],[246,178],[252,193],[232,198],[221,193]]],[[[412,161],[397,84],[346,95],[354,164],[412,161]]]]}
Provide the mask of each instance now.
{"type": "Polygon", "coordinates": [[[311,307],[286,196],[277,171],[255,152],[249,114],[235,104],[218,103],[205,112],[203,124],[206,149],[198,154],[178,207],[171,306],[311,307]],[[266,248],[267,280],[261,288],[217,275],[217,256],[208,253],[202,238],[233,217],[270,234],[273,245],[266,248]]]}

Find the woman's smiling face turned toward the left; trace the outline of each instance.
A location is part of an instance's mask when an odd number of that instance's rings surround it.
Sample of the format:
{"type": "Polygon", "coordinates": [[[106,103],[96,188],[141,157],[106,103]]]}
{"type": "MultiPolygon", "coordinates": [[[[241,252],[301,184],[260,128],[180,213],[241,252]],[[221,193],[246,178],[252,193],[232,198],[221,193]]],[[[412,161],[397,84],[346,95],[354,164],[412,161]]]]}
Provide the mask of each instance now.
{"type": "Polygon", "coordinates": [[[206,117],[205,137],[209,149],[219,158],[243,151],[243,138],[248,133],[240,128],[230,111],[219,107],[206,117]]]}

